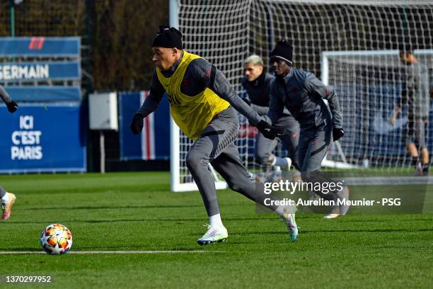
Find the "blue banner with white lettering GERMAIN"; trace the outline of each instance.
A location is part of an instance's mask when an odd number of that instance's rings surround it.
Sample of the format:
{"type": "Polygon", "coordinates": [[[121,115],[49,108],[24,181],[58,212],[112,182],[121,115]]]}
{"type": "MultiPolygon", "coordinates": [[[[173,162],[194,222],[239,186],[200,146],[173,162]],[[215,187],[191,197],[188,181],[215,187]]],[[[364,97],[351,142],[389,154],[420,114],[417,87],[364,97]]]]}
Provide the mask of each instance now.
{"type": "Polygon", "coordinates": [[[0,62],[0,81],[79,80],[80,62],[0,62]]]}

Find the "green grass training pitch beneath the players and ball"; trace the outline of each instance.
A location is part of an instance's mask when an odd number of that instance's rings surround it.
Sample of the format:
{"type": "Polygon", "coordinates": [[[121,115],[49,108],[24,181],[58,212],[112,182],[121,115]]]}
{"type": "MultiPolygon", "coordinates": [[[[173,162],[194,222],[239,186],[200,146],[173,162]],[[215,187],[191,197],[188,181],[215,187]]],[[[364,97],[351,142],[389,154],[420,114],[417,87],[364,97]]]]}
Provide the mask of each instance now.
{"type": "Polygon", "coordinates": [[[168,182],[167,172],[0,176],[17,196],[0,222],[0,287],[14,287],[9,275],[50,275],[50,288],[433,288],[432,214],[299,214],[290,243],[278,217],[219,191],[229,239],[199,246],[208,221],[200,193],[171,193],[168,182]],[[71,229],[71,251],[204,252],[1,254],[40,251],[53,222],[71,229]]]}

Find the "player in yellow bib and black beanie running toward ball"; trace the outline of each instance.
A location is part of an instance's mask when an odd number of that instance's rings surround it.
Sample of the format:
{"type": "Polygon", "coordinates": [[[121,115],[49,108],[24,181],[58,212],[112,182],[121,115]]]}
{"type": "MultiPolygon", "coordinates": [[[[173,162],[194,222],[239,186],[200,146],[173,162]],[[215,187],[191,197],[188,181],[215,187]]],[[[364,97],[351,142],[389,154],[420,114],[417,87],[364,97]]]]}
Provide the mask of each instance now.
{"type": "MultiPolygon", "coordinates": [[[[183,50],[182,34],[175,28],[160,26],[152,43],[155,64],[151,91],[134,115],[131,130],[139,134],[143,119],[158,107],[166,92],[170,113],[187,137],[195,140],[187,153],[186,163],[202,195],[209,216],[207,232],[197,240],[201,245],[225,241],[227,229],[221,221],[214,179],[207,169],[212,164],[233,191],[265,205],[262,183],[256,183],[248,174],[234,143],[238,136],[238,114],[242,113],[252,125],[270,139],[282,134],[255,113],[241,98],[224,75],[214,65],[198,55],[183,50]]],[[[296,241],[298,228],[293,208],[267,206],[287,220],[289,236],[296,241]]]]}

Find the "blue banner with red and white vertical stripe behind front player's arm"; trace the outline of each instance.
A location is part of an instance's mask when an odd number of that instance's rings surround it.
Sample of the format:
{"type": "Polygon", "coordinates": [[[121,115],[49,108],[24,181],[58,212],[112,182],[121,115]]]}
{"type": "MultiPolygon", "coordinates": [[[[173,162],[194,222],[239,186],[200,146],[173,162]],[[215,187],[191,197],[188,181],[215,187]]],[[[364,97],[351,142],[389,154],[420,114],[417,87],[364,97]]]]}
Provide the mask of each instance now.
{"type": "Polygon", "coordinates": [[[149,91],[123,92],[119,94],[120,159],[169,159],[170,158],[170,107],[164,97],[154,113],[144,119],[140,135],[132,135],[129,129],[132,117],[149,95],[149,91]]]}

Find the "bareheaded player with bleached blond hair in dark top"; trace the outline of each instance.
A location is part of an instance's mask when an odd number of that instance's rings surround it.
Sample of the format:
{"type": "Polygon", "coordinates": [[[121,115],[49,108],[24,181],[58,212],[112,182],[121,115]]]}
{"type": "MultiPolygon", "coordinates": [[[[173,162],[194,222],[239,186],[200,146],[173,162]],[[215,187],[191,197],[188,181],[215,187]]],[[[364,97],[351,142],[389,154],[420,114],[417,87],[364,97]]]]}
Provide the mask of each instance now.
{"type": "MultiPolygon", "coordinates": [[[[275,77],[266,73],[263,60],[258,55],[250,55],[245,60],[245,75],[241,80],[247,96],[243,98],[258,115],[267,115],[269,111],[269,96],[272,81],[275,77]]],[[[255,139],[255,159],[261,165],[276,165],[283,169],[290,169],[289,162],[299,170],[298,166],[298,142],[299,123],[291,116],[287,109],[284,109],[283,116],[274,124],[284,128],[284,134],[275,140],[270,140],[258,132],[255,139]],[[289,152],[290,160],[276,157],[272,151],[282,142],[289,152]]]]}

